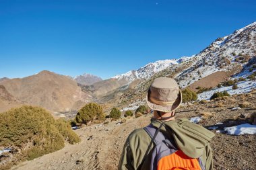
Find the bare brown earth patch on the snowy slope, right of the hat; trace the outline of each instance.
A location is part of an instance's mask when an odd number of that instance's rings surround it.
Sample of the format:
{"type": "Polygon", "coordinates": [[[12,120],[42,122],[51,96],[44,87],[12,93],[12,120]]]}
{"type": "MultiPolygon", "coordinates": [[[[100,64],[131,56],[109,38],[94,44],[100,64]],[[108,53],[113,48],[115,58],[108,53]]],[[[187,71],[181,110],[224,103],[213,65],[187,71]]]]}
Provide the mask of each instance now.
{"type": "Polygon", "coordinates": [[[216,87],[220,82],[227,81],[229,79],[230,75],[226,73],[225,71],[218,71],[216,73],[212,73],[211,75],[208,75],[206,77],[203,77],[199,81],[195,81],[195,83],[192,83],[189,85],[189,89],[193,91],[198,91],[197,87],[216,87]]]}

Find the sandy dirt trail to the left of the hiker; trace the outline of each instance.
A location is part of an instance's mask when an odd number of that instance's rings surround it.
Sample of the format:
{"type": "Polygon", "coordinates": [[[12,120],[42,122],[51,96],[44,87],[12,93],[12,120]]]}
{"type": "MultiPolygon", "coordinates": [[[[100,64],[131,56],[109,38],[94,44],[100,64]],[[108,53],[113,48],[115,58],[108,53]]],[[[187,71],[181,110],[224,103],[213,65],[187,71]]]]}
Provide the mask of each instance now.
{"type": "Polygon", "coordinates": [[[146,126],[148,118],[131,118],[118,125],[94,124],[75,130],[82,139],[78,144],[67,144],[63,149],[19,164],[12,169],[116,169],[123,144],[135,128],[146,126]]]}

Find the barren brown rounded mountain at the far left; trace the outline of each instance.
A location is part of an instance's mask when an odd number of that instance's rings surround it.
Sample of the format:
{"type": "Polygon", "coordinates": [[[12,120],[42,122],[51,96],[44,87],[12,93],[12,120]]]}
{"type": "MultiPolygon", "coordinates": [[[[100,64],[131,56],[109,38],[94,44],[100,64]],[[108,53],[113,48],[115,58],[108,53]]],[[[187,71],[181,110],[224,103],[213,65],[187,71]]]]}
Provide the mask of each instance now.
{"type": "Polygon", "coordinates": [[[20,101],[55,112],[69,110],[75,101],[86,101],[85,93],[75,81],[50,71],[42,71],[23,79],[5,80],[0,84],[20,101]]]}

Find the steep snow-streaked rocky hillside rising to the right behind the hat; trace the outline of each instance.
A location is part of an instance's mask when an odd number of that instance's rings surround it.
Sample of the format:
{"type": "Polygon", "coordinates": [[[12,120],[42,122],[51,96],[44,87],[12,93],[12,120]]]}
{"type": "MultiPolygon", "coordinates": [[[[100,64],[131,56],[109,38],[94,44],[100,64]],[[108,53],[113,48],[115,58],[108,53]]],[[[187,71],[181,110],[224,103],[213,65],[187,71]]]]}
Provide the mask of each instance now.
{"type": "MultiPolygon", "coordinates": [[[[195,83],[203,77],[214,77],[219,72],[220,79],[213,79],[212,87],[229,79],[230,76],[249,70],[253,67],[256,56],[256,22],[236,30],[229,36],[218,38],[210,46],[191,57],[186,57],[173,65],[155,73],[146,81],[143,81],[134,89],[124,93],[119,100],[120,103],[131,103],[136,99],[143,99],[153,79],[156,77],[172,77],[179,82],[181,88],[195,87],[195,83]]],[[[208,80],[208,78],[206,78],[208,80]]],[[[201,81],[200,85],[208,85],[201,81]]]]}

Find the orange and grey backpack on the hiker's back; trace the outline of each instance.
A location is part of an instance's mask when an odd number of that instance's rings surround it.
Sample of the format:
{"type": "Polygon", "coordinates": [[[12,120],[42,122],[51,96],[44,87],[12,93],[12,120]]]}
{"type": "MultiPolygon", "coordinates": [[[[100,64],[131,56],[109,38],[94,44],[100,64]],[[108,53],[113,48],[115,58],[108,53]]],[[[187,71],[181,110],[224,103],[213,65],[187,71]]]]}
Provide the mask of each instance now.
{"type": "MultiPolygon", "coordinates": [[[[160,132],[160,128],[152,124],[143,128],[152,138],[146,155],[150,150],[152,142],[156,144],[153,148],[150,170],[205,170],[201,157],[190,158],[181,151],[173,139],[168,139],[160,132]]],[[[146,156],[145,155],[145,156],[146,156]]],[[[145,157],[144,157],[145,158],[145,157]]]]}

